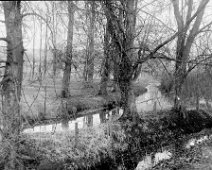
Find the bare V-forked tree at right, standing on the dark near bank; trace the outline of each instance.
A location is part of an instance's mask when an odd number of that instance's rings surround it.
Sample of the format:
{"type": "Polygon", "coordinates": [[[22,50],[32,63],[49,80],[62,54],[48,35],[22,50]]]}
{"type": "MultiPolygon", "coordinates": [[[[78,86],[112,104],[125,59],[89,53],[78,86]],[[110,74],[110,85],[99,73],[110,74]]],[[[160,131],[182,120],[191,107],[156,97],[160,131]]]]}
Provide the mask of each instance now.
{"type": "Polygon", "coordinates": [[[177,36],[177,48],[176,48],[176,64],[175,64],[175,100],[174,108],[177,111],[182,109],[182,85],[187,75],[187,63],[189,60],[189,54],[191,51],[192,44],[195,37],[200,33],[199,27],[202,22],[205,7],[209,0],[201,0],[197,11],[192,16],[194,2],[193,0],[180,1],[172,0],[174,7],[174,15],[177,21],[178,32],[177,36]],[[181,6],[180,6],[181,5],[181,6]],[[185,9],[180,11],[180,7],[186,6],[187,13],[185,9]],[[186,17],[183,15],[186,14],[186,17]],[[191,21],[194,20],[193,25],[191,21]]]}

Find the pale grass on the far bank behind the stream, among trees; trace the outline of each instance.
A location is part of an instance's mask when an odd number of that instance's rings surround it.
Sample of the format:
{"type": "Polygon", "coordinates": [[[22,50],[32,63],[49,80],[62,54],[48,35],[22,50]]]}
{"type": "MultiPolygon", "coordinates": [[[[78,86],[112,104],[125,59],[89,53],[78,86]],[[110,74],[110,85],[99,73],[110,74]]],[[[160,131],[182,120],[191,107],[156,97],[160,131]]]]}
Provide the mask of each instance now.
{"type": "MultiPolygon", "coordinates": [[[[65,115],[67,110],[68,114],[72,114],[73,110],[80,112],[87,109],[97,109],[106,106],[108,103],[115,102],[118,104],[120,101],[120,94],[117,92],[110,92],[107,97],[97,95],[100,83],[98,76],[94,79],[92,87],[85,88],[81,76],[77,74],[72,75],[70,84],[71,97],[68,100],[60,98],[61,82],[61,74],[58,74],[54,79],[47,74],[42,84],[25,78],[21,101],[23,119],[33,124],[34,122],[46,119],[67,118],[67,115],[65,115]],[[61,105],[61,103],[65,105],[61,105]],[[64,110],[63,106],[67,110],[64,110]]],[[[145,76],[134,83],[133,89],[136,96],[146,92],[145,86],[147,83],[148,81],[145,76]],[[144,79],[146,80],[144,81],[144,79]]]]}

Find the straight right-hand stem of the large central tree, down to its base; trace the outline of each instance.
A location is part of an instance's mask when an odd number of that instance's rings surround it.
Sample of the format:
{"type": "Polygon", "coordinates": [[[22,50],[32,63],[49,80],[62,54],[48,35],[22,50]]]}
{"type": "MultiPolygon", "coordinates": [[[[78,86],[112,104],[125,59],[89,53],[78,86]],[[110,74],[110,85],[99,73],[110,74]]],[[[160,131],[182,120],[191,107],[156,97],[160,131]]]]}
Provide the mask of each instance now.
{"type": "Polygon", "coordinates": [[[129,117],[135,120],[138,116],[135,96],[133,93],[131,81],[133,76],[133,50],[134,32],[135,32],[135,9],[136,1],[126,2],[126,40],[123,42],[124,53],[122,54],[119,66],[119,87],[121,90],[121,101],[123,101],[123,117],[129,117]],[[129,50],[131,49],[131,50],[129,50]]]}

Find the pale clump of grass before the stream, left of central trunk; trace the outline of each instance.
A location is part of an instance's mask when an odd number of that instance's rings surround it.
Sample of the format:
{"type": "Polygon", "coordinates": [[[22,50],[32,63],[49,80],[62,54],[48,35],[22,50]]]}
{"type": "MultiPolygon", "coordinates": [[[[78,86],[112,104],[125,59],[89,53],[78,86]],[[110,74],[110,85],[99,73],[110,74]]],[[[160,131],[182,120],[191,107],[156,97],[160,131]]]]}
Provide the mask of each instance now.
{"type": "MultiPolygon", "coordinates": [[[[101,161],[106,159],[114,159],[112,147],[114,141],[108,135],[113,131],[116,131],[114,134],[118,138],[123,139],[122,132],[106,124],[98,128],[82,129],[77,138],[70,132],[53,136],[51,134],[29,135],[29,138],[36,141],[43,157],[50,162],[63,162],[69,169],[87,169],[101,164],[101,161]]],[[[121,148],[121,145],[116,147],[121,148]]]]}

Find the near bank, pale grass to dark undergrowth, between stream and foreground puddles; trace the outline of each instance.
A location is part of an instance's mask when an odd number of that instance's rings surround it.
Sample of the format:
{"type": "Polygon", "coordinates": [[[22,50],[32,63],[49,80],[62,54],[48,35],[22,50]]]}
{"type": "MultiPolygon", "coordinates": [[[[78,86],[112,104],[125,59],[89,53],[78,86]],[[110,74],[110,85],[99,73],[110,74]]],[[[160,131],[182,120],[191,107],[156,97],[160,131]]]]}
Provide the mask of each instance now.
{"type": "Polygon", "coordinates": [[[77,133],[63,131],[23,134],[24,150],[21,153],[24,159],[27,158],[26,166],[39,170],[59,167],[61,170],[134,170],[147,154],[166,150],[170,146],[173,146],[173,151],[176,147],[179,150],[194,134],[197,134],[196,137],[204,135],[200,131],[211,128],[212,125],[212,120],[203,118],[202,113],[198,114],[196,111],[188,111],[190,122],[179,122],[173,114],[174,112],[169,110],[160,112],[160,118],[155,116],[151,119],[140,119],[136,123],[128,122],[128,135],[119,121],[86,127],[77,133]],[[201,119],[198,116],[193,117],[194,114],[201,116],[202,121],[199,121],[201,119]],[[182,122],[185,126],[182,126],[182,122]],[[31,150],[26,149],[28,145],[31,150]]]}

